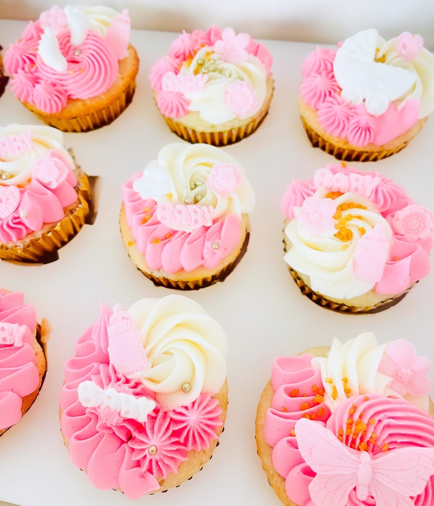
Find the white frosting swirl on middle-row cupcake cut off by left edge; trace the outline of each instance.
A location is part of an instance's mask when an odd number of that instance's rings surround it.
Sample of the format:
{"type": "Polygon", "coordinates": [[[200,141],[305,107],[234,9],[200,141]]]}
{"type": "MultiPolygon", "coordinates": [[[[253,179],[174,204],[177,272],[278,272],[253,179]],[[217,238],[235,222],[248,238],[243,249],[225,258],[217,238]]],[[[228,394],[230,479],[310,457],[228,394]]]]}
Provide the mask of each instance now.
{"type": "Polygon", "coordinates": [[[71,170],[74,170],[75,166],[71,155],[63,145],[63,133],[51,126],[9,124],[0,128],[0,142],[4,137],[21,135],[27,132],[33,134],[31,150],[0,158],[0,171],[13,176],[10,179],[2,179],[2,185],[26,185],[32,177],[36,160],[47,156],[51,149],[59,153],[71,170]]]}

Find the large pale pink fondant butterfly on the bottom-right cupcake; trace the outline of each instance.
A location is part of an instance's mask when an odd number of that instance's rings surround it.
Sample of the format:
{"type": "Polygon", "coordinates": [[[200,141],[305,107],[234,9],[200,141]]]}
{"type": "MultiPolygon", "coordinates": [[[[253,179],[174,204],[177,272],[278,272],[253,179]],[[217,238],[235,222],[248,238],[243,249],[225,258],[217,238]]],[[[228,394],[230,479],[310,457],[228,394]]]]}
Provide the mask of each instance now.
{"type": "Polygon", "coordinates": [[[361,501],[369,496],[376,506],[414,506],[434,475],[434,448],[397,448],[372,456],[352,450],[328,429],[302,418],[295,425],[298,448],[317,473],[309,485],[316,506],[345,506],[355,487],[361,501]]]}

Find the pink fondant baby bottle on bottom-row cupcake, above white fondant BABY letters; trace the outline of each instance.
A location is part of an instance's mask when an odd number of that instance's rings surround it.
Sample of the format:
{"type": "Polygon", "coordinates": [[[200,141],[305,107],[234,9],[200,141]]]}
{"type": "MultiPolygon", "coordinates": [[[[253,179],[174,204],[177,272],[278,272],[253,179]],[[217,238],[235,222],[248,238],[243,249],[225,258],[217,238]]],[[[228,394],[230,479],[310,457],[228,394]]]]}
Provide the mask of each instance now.
{"type": "Polygon", "coordinates": [[[143,370],[147,365],[139,330],[122,304],[113,307],[107,329],[108,355],[117,372],[125,375],[143,370]]]}

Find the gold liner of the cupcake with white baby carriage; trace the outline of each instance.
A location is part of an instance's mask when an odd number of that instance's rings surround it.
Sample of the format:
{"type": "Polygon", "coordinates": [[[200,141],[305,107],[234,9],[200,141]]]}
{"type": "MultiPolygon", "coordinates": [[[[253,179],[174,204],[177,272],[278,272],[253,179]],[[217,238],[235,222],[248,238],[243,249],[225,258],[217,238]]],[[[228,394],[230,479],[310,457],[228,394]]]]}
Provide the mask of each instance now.
{"type": "Polygon", "coordinates": [[[306,131],[307,137],[309,138],[310,143],[314,148],[320,148],[326,153],[333,155],[338,160],[345,161],[377,161],[382,158],[387,158],[395,153],[398,153],[402,149],[404,149],[409,141],[405,141],[399,146],[393,149],[385,149],[383,151],[359,151],[356,149],[344,149],[338,146],[335,146],[329,141],[326,141],[323,137],[321,137],[317,132],[312,130],[310,125],[308,125],[303,118],[301,117],[301,121],[303,122],[303,128],[306,131]]]}

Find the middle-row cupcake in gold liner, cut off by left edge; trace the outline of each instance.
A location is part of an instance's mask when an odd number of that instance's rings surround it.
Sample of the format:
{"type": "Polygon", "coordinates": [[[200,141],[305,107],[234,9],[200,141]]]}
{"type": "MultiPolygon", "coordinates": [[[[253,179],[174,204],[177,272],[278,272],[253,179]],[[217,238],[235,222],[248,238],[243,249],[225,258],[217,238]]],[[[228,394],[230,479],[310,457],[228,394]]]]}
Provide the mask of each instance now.
{"type": "Polygon", "coordinates": [[[50,126],[0,128],[0,259],[51,262],[90,214],[87,175],[50,126]]]}

